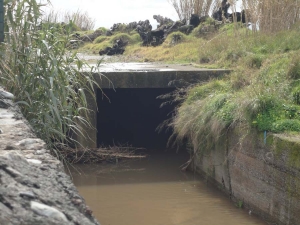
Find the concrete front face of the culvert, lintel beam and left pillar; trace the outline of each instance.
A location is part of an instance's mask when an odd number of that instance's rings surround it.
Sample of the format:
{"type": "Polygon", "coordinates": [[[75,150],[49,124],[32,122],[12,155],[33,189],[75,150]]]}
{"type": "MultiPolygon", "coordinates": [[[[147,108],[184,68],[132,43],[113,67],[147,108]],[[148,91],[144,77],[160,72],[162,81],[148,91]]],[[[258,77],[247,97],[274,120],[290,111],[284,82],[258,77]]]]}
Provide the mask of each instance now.
{"type": "MultiPolygon", "coordinates": [[[[94,73],[95,81],[100,88],[177,88],[190,84],[208,81],[213,78],[228,74],[230,70],[223,69],[195,69],[182,71],[120,71],[94,73]]],[[[85,73],[83,73],[85,75],[85,73]]],[[[95,85],[95,90],[98,88],[95,85]]],[[[93,97],[86,93],[90,114],[88,120],[96,127],[97,104],[93,97]]],[[[121,113],[121,112],[120,112],[121,113]]],[[[82,125],[84,136],[74,135],[74,139],[80,143],[79,147],[96,148],[97,130],[82,125]]]]}

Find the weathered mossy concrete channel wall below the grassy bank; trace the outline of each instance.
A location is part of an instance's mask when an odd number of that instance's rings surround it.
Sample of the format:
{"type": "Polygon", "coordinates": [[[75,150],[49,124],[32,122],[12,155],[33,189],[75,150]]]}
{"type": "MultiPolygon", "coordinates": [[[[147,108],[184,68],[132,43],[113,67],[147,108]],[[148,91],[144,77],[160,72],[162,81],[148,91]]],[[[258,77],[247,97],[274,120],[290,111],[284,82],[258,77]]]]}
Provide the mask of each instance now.
{"type": "Polygon", "coordinates": [[[229,132],[218,146],[196,154],[194,169],[204,174],[233,201],[243,202],[275,224],[300,221],[300,139],[297,136],[229,132]]]}

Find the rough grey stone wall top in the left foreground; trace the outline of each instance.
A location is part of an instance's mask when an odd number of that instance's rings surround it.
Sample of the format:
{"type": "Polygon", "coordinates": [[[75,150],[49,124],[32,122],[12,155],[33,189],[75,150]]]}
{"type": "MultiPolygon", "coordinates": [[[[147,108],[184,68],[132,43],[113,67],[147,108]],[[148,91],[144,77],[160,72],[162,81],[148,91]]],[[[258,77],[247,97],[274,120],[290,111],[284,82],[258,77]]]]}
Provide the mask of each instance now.
{"type": "Polygon", "coordinates": [[[12,98],[0,90],[0,224],[99,225],[12,98]]]}

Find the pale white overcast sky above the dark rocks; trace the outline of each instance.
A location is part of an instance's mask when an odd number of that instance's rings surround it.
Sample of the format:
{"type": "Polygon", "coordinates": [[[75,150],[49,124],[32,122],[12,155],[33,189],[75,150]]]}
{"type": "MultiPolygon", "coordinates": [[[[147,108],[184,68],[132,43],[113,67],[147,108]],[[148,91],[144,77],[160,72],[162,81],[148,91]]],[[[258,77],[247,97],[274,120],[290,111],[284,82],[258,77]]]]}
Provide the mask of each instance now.
{"type": "Polygon", "coordinates": [[[95,27],[110,28],[114,23],[130,23],[150,20],[153,28],[157,23],[153,15],[178,20],[168,0],[50,0],[54,10],[88,12],[95,19],[95,27]]]}

